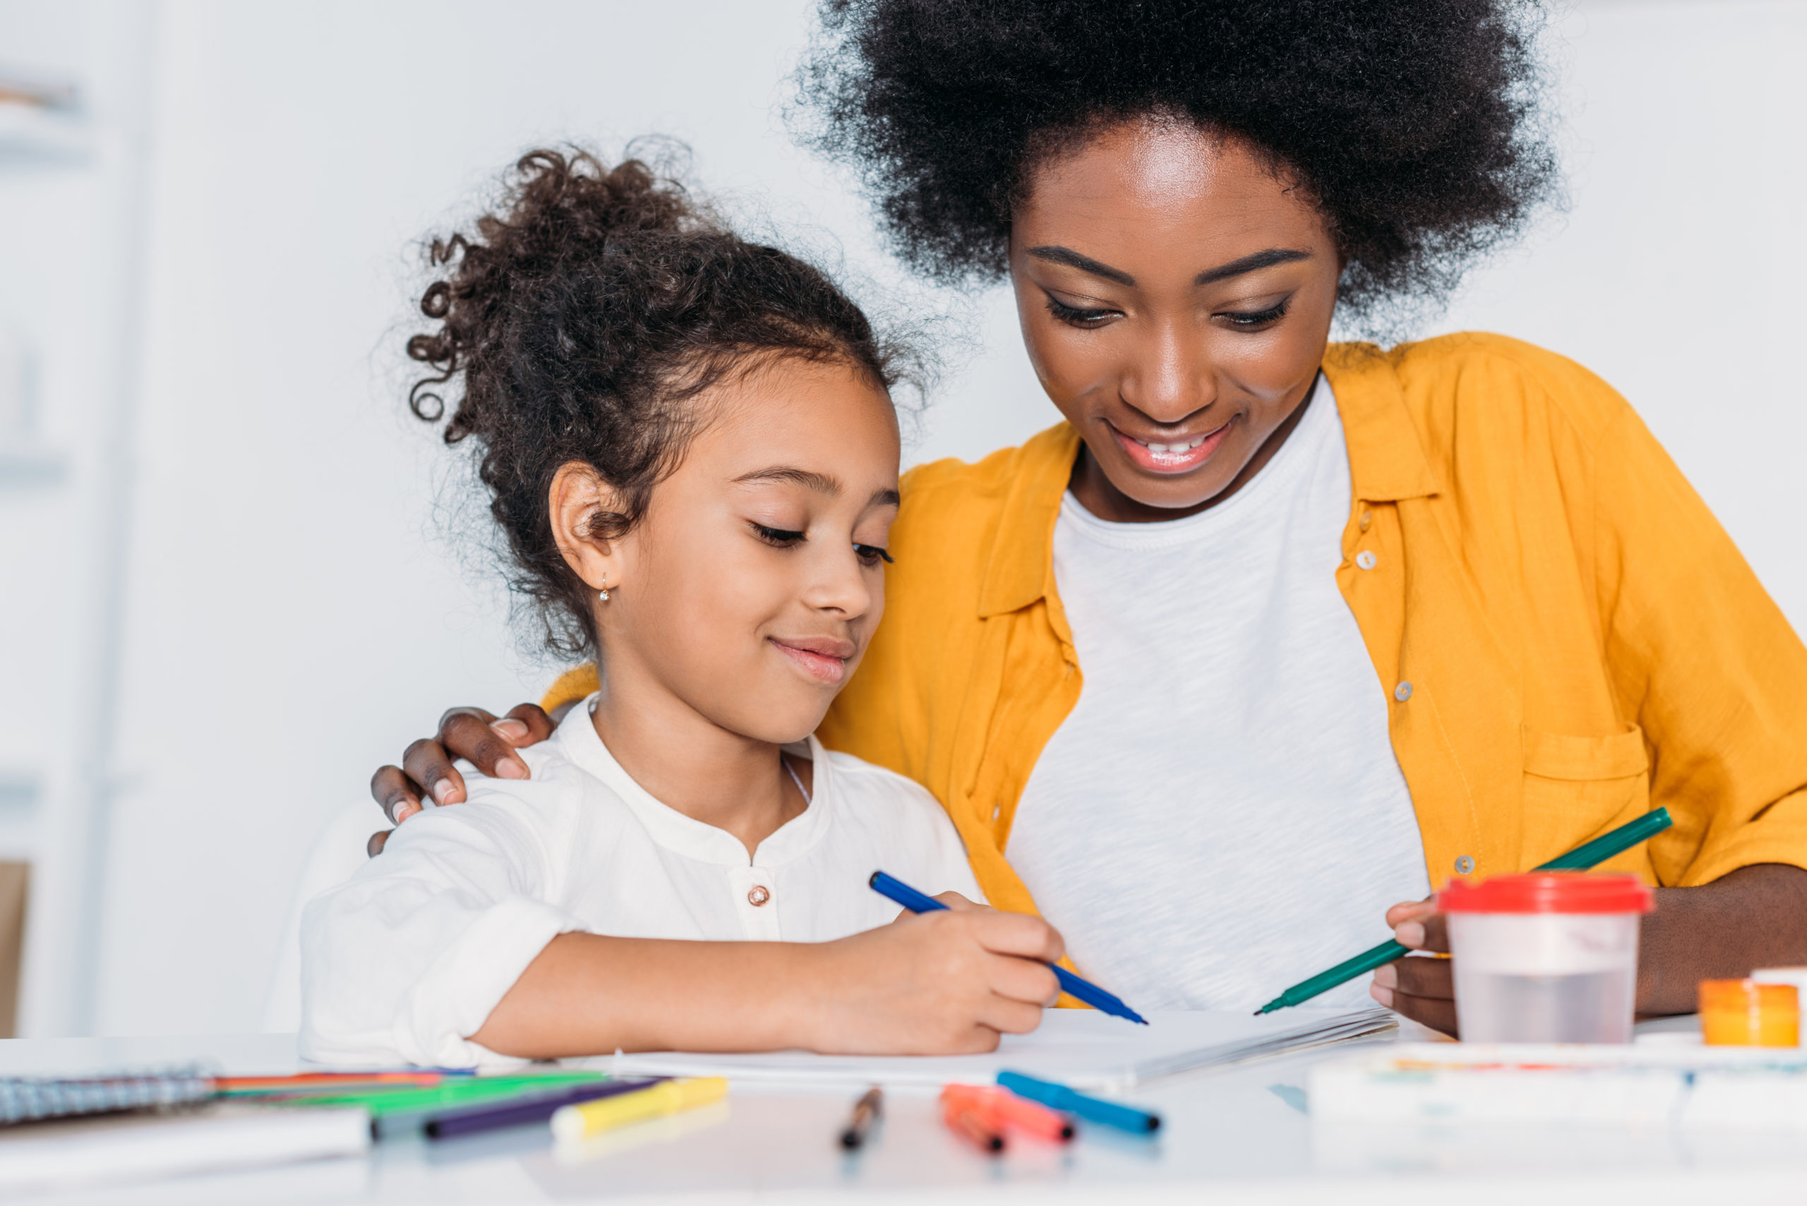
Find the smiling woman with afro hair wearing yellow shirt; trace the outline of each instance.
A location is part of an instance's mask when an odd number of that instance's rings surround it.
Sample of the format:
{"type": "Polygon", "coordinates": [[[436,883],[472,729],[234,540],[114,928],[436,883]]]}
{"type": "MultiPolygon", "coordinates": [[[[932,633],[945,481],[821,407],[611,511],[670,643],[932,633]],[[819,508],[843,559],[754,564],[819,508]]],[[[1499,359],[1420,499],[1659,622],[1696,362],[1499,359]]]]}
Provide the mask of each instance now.
{"type": "MultiPolygon", "coordinates": [[[[1639,1007],[1807,962],[1807,650],[1635,413],[1496,336],[1326,343],[1545,193],[1523,20],[828,5],[819,144],[909,262],[1010,278],[1064,422],[905,478],[820,737],[929,787],[992,904],[1137,1007],[1254,1007],[1390,901],[1657,805],[1610,863],[1661,885],[1639,1007]]],[[[448,753],[519,775],[546,720],[511,717],[450,713],[374,794],[455,802],[448,753]]],[[[1424,904],[1386,924],[1444,948],[1424,904]]],[[[1370,991],[1455,1029],[1446,960],[1370,991]]]]}

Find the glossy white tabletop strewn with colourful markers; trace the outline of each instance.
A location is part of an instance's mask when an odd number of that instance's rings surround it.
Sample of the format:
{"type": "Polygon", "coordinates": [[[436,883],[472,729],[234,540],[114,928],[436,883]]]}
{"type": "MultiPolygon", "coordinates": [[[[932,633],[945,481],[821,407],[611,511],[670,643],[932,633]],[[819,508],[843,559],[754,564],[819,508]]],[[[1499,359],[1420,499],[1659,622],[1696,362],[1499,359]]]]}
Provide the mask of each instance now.
{"type": "MultiPolygon", "coordinates": [[[[1346,1051],[1332,1049],[1328,1054],[1346,1051]]],[[[1784,1202],[1807,1201],[1807,1136],[1312,1125],[1305,1072],[1326,1053],[1155,1081],[1158,1139],[1084,1130],[1070,1146],[987,1157],[947,1132],[932,1096],[889,1092],[860,1154],[837,1136],[851,1096],[737,1087],[728,1101],[643,1123],[560,1157],[538,1127],[316,1161],[61,1193],[58,1202],[1784,1202]],[[1760,1195],[1760,1197],[1751,1197],[1760,1195]]],[[[296,1067],[287,1034],[0,1042],[0,1074],[204,1060],[296,1067]]],[[[16,1199],[14,1199],[16,1201],[16,1199]]],[[[1740,1204],[1742,1206],[1742,1204],[1740,1204]]]]}

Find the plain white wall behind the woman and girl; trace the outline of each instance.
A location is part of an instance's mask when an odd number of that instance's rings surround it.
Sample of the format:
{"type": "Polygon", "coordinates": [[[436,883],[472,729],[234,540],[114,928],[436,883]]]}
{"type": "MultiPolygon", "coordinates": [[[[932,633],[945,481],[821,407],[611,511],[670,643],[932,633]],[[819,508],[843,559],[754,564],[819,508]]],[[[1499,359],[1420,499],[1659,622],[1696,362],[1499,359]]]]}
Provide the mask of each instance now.
{"type": "MultiPolygon", "coordinates": [[[[316,832],[445,706],[549,677],[432,540],[446,455],[407,417],[396,354],[412,240],[528,144],[658,130],[880,294],[896,280],[775,116],[810,7],[159,5],[101,1033],[255,1029],[316,832]]],[[[1807,4],[1581,4],[1554,51],[1572,209],[1438,329],[1534,339],[1619,385],[1807,630],[1807,4]]],[[[983,352],[920,457],[1053,419],[1008,298],[963,323],[983,352]]]]}

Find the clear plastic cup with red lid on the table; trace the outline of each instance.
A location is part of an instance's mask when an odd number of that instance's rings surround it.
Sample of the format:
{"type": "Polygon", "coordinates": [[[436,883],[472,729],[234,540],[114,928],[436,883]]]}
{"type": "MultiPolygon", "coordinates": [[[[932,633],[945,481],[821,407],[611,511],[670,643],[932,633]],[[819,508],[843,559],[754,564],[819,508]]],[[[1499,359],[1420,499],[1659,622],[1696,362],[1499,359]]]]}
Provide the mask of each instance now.
{"type": "Polygon", "coordinates": [[[1451,883],[1437,908],[1449,923],[1464,1042],[1632,1042],[1637,921],[1653,906],[1637,876],[1451,883]]]}

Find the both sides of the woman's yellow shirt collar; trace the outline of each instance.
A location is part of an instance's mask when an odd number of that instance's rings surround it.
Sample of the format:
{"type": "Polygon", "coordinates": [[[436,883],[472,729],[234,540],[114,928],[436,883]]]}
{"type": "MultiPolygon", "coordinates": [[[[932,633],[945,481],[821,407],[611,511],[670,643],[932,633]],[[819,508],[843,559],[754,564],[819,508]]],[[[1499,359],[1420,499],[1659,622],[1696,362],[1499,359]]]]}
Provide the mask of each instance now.
{"type": "MultiPolygon", "coordinates": [[[[1343,419],[1355,498],[1397,502],[1438,493],[1442,484],[1424,457],[1393,359],[1372,343],[1332,343],[1323,366],[1343,419]]],[[[1066,422],[1034,435],[1017,450],[1016,473],[1006,478],[1003,515],[979,587],[979,617],[1053,598],[1053,522],[1061,515],[1077,455],[1079,431],[1066,422]]]]}

